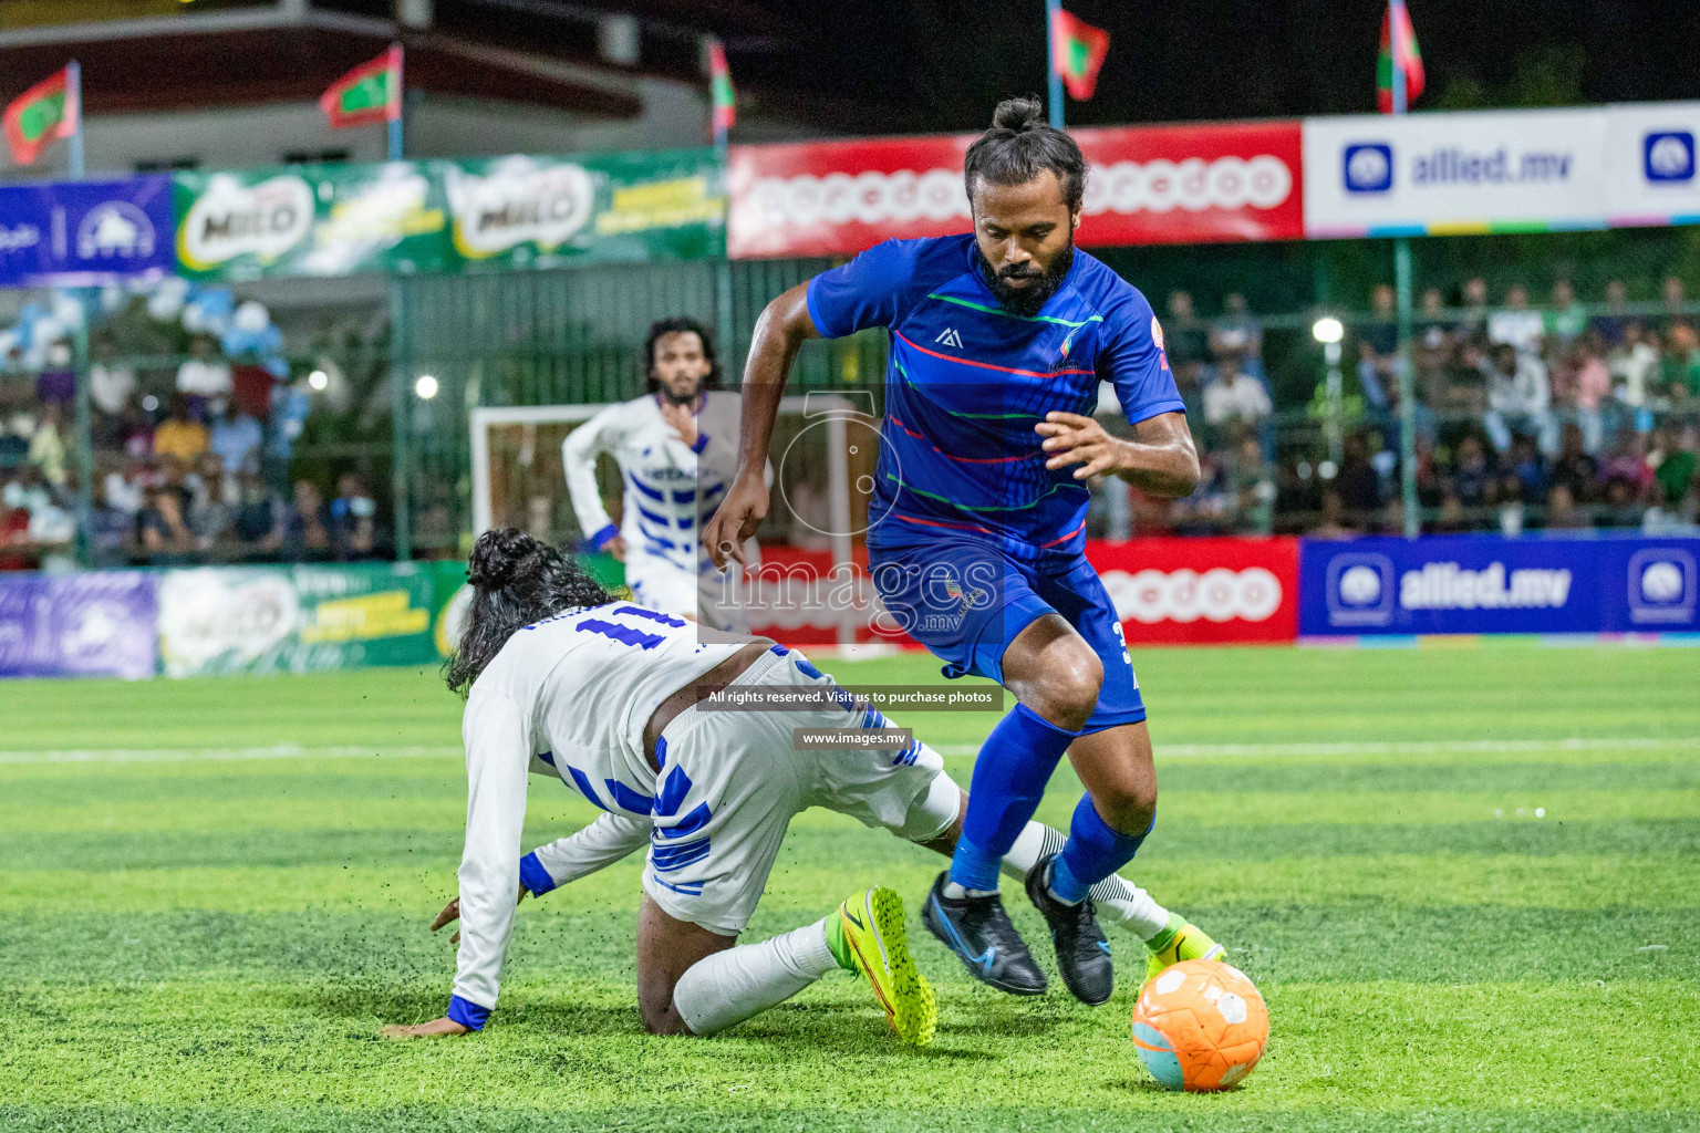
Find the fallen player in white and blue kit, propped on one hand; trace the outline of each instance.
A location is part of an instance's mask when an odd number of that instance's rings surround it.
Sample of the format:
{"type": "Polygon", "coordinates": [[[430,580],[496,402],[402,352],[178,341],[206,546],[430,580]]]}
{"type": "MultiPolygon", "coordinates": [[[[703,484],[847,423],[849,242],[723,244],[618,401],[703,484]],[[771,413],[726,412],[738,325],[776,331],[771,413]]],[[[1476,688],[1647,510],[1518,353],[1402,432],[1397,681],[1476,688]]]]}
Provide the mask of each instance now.
{"type": "MultiPolygon", "coordinates": [[[[898,749],[797,749],[792,729],[892,727],[802,654],[765,639],[700,642],[688,622],[614,601],[558,549],[515,530],[473,547],[474,596],[450,688],[468,693],[469,780],[449,1012],[386,1028],[464,1034],[496,1006],[517,899],[542,895],[648,846],[638,916],[638,1004],[656,1034],[714,1034],[790,999],[828,972],[869,980],[904,1043],[932,1040],[932,989],[908,955],[903,902],[864,890],[821,921],[738,944],[792,815],[828,807],[947,854],[966,793],[920,741],[898,749]],[[709,708],[717,691],[775,690],[804,708],[709,708]],[[527,773],[559,778],[604,810],[585,829],[520,854],[527,773]]],[[[1062,844],[1028,822],[1005,860],[1025,873],[1062,844]]],[[[1153,965],[1192,958],[1183,919],[1129,882],[1093,887],[1100,916],[1158,941],[1153,965]]]]}

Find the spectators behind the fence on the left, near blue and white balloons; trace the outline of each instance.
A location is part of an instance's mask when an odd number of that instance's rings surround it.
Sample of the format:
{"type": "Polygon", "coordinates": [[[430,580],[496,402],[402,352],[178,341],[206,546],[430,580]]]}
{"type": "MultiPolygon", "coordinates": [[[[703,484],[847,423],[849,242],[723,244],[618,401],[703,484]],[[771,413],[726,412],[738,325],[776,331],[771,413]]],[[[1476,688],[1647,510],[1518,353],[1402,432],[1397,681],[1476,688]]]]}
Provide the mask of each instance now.
{"type": "MultiPolygon", "coordinates": [[[[0,377],[0,569],[34,569],[76,535],[76,379],[56,343],[31,374],[0,377]]],[[[335,491],[287,482],[304,392],[231,364],[197,338],[175,369],[141,370],[95,340],[88,374],[97,566],[314,562],[388,557],[377,503],[343,472],[335,491]]]]}

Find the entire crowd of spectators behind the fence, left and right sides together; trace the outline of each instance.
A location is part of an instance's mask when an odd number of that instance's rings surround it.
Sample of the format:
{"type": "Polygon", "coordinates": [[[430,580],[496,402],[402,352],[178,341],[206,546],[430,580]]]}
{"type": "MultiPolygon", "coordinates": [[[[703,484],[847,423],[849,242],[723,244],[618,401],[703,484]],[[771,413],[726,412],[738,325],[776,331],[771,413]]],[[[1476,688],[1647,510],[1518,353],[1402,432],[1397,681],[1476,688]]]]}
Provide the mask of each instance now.
{"type": "MultiPolygon", "coordinates": [[[[1402,530],[1394,290],[1379,285],[1368,299],[1348,323],[1338,401],[1318,386],[1307,406],[1280,406],[1266,324],[1246,299],[1229,294],[1205,318],[1190,294],[1171,292],[1164,347],[1205,481],[1175,503],[1098,484],[1091,532],[1402,530]]],[[[1630,304],[1622,280],[1591,306],[1564,279],[1542,306],[1523,285],[1489,299],[1482,279],[1452,296],[1421,294],[1413,380],[1423,528],[1700,521],[1700,318],[1683,280],[1666,279],[1656,304],[1630,304]]],[[[1314,374],[1314,353],[1304,367],[1314,374]]],[[[34,569],[75,540],[75,391],[63,343],[39,367],[14,352],[0,370],[0,569],[34,569]]],[[[97,335],[90,399],[97,564],[389,555],[388,508],[360,474],[296,467],[291,479],[313,409],[306,379],[230,360],[207,336],[175,365],[138,367],[97,335]]]]}

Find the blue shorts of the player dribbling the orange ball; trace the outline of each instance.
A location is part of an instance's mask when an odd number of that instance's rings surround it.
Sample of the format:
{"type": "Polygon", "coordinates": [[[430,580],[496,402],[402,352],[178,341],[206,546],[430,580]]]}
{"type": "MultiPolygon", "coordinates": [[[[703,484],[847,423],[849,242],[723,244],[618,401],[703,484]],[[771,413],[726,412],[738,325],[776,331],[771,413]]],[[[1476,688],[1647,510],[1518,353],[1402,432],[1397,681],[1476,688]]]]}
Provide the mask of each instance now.
{"type": "Polygon", "coordinates": [[[954,535],[869,545],[867,554],[886,613],[945,661],[945,676],[972,673],[1003,685],[1003,651],[1017,634],[1061,613],[1103,661],[1098,707],[1083,732],[1146,719],[1122,623],[1086,555],[1028,564],[984,540],[954,535]]]}

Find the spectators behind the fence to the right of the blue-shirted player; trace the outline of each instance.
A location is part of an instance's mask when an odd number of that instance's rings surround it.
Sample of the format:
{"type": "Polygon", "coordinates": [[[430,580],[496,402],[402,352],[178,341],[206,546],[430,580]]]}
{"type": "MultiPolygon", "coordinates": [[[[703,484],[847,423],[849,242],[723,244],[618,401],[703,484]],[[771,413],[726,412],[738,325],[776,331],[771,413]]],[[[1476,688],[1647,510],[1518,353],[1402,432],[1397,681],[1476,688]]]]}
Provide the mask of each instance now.
{"type": "MultiPolygon", "coordinates": [[[[1595,306],[1566,279],[1552,284],[1542,307],[1523,285],[1491,304],[1479,277],[1447,299],[1426,289],[1413,324],[1425,530],[1668,528],[1700,520],[1700,333],[1680,277],[1664,280],[1652,313],[1627,302],[1622,280],[1606,284],[1595,306]]],[[[1168,506],[1136,499],[1134,530],[1402,530],[1391,285],[1374,289],[1367,318],[1350,328],[1346,392],[1334,406],[1319,387],[1311,406],[1277,409],[1263,326],[1241,296],[1227,296],[1219,318],[1202,319],[1187,292],[1173,292],[1164,336],[1205,482],[1168,506]],[[1331,420],[1333,445],[1324,440],[1331,420]]]]}

